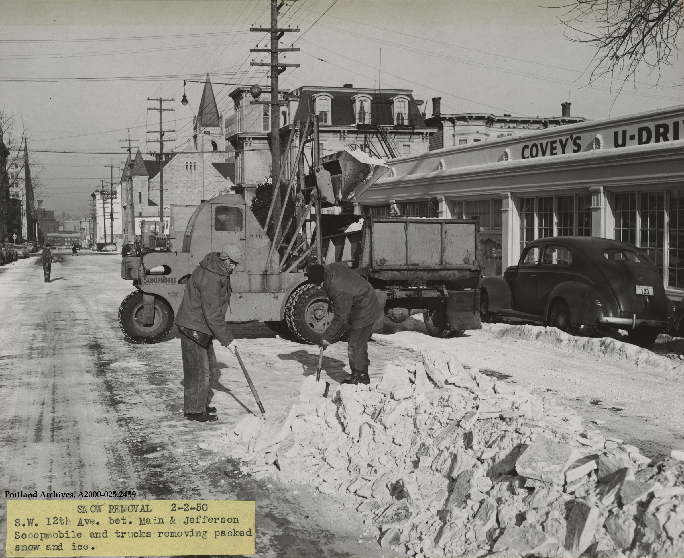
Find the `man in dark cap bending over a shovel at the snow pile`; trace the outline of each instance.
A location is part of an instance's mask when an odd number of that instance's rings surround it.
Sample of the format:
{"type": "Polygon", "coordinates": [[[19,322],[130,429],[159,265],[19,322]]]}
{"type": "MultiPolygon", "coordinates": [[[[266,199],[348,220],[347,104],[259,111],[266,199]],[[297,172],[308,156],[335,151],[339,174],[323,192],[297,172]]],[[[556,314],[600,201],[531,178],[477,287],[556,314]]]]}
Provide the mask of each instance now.
{"type": "Polygon", "coordinates": [[[309,266],[306,275],[314,285],[323,283],[335,313],[319,346],[328,348],[345,329],[350,329],[347,356],[352,378],[348,383],[369,384],[368,365],[371,361],[368,360],[368,340],[373,334],[373,323],[381,315],[376,291],[342,262],[309,266]]]}

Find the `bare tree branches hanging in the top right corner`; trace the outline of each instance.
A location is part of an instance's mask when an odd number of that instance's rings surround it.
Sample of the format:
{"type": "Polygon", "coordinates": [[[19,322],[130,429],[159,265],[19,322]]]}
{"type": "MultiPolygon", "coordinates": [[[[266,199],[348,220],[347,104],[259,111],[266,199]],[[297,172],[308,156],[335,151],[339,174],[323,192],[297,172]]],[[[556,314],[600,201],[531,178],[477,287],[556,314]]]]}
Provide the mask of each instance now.
{"type": "Polygon", "coordinates": [[[682,0],[573,0],[560,9],[558,19],[576,33],[570,40],[596,49],[589,83],[618,79],[618,94],[640,68],[656,72],[657,84],[680,51],[682,0]]]}

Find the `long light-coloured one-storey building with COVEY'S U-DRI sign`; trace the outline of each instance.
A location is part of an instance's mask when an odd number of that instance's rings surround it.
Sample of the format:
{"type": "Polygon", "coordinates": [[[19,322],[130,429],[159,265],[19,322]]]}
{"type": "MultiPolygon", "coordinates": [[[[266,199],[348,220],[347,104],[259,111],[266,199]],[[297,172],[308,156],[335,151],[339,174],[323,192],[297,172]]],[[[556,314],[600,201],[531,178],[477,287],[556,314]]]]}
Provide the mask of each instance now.
{"type": "Polygon", "coordinates": [[[364,214],[479,219],[500,275],[530,240],[601,236],[642,247],[684,297],[684,105],[387,161],[364,214]]]}

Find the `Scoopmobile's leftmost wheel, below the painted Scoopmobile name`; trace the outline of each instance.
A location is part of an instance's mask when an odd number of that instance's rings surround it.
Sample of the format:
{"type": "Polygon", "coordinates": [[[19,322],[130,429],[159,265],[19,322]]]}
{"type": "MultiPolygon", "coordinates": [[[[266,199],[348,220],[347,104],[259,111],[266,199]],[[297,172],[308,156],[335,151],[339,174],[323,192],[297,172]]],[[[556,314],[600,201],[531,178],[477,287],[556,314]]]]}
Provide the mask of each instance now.
{"type": "Polygon", "coordinates": [[[135,290],[123,299],[119,307],[119,325],[127,339],[137,344],[153,344],[162,341],[171,331],[174,323],[173,309],[168,303],[155,296],[155,322],[151,326],[142,324],[142,292],[135,290]]]}

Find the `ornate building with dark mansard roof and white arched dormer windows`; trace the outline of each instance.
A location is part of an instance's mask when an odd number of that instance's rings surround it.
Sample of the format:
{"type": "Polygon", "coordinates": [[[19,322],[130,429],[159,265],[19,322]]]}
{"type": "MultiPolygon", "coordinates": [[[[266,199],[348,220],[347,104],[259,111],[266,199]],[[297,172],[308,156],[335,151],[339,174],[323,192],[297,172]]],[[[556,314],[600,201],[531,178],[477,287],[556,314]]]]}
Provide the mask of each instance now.
{"type": "MultiPolygon", "coordinates": [[[[328,155],[356,145],[383,159],[428,151],[429,128],[423,120],[422,100],[413,98],[411,89],[363,89],[303,86],[281,92],[287,102],[280,113],[280,145],[285,149],[291,128],[319,116],[320,153],[328,155]]],[[[270,176],[270,116],[265,105],[250,105],[247,87],[231,92],[235,108],[235,128],[226,141],[235,149],[235,191],[250,200],[257,184],[270,176]]],[[[268,94],[260,100],[269,100],[268,94]]],[[[293,148],[286,160],[284,180],[288,180],[301,139],[295,134],[293,148]]],[[[308,171],[308,169],[305,169],[308,171]]]]}

